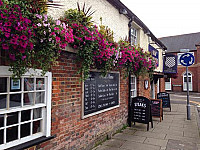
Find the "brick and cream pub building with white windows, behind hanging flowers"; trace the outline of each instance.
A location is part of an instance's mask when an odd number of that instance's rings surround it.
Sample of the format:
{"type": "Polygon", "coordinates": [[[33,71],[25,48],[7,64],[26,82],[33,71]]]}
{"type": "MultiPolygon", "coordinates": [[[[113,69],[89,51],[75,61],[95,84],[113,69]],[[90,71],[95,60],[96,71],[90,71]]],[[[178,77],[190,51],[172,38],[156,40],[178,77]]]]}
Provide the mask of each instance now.
{"type": "MultiPolygon", "coordinates": [[[[84,0],[79,0],[82,6],[84,0]]],[[[132,45],[150,51],[158,66],[149,76],[124,78],[113,70],[102,77],[99,70],[80,82],[76,74],[76,49],[67,47],[44,76],[25,74],[11,78],[8,66],[0,66],[0,149],[91,149],[127,125],[128,108],[136,96],[156,98],[164,92],[163,52],[165,45],[121,1],[87,0],[95,10],[93,20],[114,32],[115,41],[129,37],[132,45]],[[9,105],[8,105],[9,103],[9,105]]],[[[65,10],[77,8],[77,1],[62,1],[48,15],[59,18],[65,10]]],[[[31,70],[30,70],[31,73],[31,70]]]]}

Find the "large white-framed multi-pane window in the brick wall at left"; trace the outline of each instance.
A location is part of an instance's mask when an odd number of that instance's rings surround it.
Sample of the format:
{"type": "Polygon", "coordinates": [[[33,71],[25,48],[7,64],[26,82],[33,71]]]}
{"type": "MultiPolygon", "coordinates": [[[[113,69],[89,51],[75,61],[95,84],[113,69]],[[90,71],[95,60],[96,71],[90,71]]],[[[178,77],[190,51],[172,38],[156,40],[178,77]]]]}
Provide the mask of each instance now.
{"type": "Polygon", "coordinates": [[[51,73],[13,80],[5,70],[0,67],[0,149],[50,136],[51,73]]]}

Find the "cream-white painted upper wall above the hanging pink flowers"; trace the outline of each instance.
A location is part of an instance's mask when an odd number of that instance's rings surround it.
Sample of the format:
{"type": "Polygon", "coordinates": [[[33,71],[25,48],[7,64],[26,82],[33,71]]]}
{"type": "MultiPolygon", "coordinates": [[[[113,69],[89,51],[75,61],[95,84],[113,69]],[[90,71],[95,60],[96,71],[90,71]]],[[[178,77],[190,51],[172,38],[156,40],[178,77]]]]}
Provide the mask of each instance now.
{"type": "Polygon", "coordinates": [[[106,0],[56,0],[63,6],[60,9],[49,8],[48,14],[51,15],[54,19],[58,19],[60,16],[64,14],[64,11],[68,9],[77,8],[77,2],[82,8],[84,2],[86,7],[89,8],[92,6],[91,10],[95,10],[96,12],[92,15],[94,23],[98,26],[100,25],[100,17],[102,17],[103,25],[108,26],[114,32],[114,40],[118,42],[120,39],[128,38],[128,22],[129,19],[119,14],[118,9],[113,7],[106,0]]]}

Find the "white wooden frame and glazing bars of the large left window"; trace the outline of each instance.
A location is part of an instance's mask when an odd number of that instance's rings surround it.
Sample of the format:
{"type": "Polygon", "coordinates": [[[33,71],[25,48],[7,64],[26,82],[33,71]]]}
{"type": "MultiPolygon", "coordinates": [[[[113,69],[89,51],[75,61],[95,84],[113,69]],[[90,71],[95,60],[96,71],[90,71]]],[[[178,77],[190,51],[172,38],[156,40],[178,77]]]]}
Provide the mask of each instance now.
{"type": "MultiPolygon", "coordinates": [[[[0,77],[8,77],[10,78],[12,76],[12,73],[10,71],[8,71],[9,67],[8,66],[0,66],[0,77]]],[[[44,77],[42,77],[41,75],[41,70],[33,70],[33,69],[29,69],[29,72],[26,73],[23,77],[30,77],[30,75],[32,75],[30,78],[44,78],[45,79],[45,90],[43,90],[42,92],[45,92],[45,99],[44,99],[44,103],[40,103],[40,104],[35,104],[35,105],[28,105],[28,106],[21,106],[21,107],[13,107],[13,108],[9,108],[9,109],[0,109],[0,115],[5,115],[7,113],[12,113],[12,112],[19,112],[18,114],[18,123],[14,124],[14,126],[18,127],[18,139],[10,141],[8,143],[5,143],[6,140],[6,118],[4,117],[4,127],[0,127],[0,129],[3,129],[4,131],[4,144],[0,145],[0,149],[7,149],[7,148],[11,148],[20,144],[23,144],[25,142],[29,142],[31,140],[37,139],[39,137],[42,136],[46,136],[49,137],[51,136],[51,92],[52,92],[52,73],[51,72],[47,72],[44,77]],[[41,116],[41,131],[23,138],[19,138],[20,135],[20,125],[21,122],[19,122],[20,115],[21,112],[24,110],[31,110],[31,112],[33,113],[33,109],[35,108],[41,108],[42,109],[42,116],[41,116]]],[[[21,83],[23,83],[23,78],[22,77],[22,81],[21,83]]],[[[36,79],[35,79],[36,80],[36,79]]],[[[35,82],[36,84],[36,82],[35,82]]],[[[23,86],[23,84],[22,84],[23,86]]],[[[7,89],[10,86],[7,86],[7,89]]],[[[18,93],[23,93],[23,88],[21,90],[21,92],[18,93]]],[[[6,92],[8,95],[11,92],[6,92]]],[[[23,97],[22,97],[23,99],[23,97]]],[[[32,114],[33,115],[33,114],[32,114]]],[[[31,120],[28,120],[28,122],[33,122],[33,118],[31,120]]],[[[23,123],[22,123],[23,124],[23,123]]],[[[12,125],[11,125],[12,126],[12,125]]],[[[32,125],[30,125],[30,130],[32,130],[32,125]]],[[[32,131],[31,131],[32,133],[32,131]]]]}

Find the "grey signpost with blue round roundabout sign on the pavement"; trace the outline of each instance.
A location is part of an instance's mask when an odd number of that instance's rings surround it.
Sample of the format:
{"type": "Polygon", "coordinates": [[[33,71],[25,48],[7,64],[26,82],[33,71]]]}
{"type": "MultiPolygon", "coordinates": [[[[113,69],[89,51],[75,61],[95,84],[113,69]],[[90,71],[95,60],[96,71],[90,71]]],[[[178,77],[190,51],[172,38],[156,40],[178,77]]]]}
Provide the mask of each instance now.
{"type": "MultiPolygon", "coordinates": [[[[182,49],[181,52],[189,52],[188,49],[182,49]]],[[[186,66],[186,75],[187,75],[187,120],[190,120],[190,101],[189,101],[189,84],[188,84],[188,66],[191,66],[194,63],[194,56],[190,53],[184,53],[180,57],[180,63],[183,66],[186,66]]]]}

